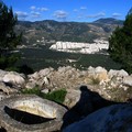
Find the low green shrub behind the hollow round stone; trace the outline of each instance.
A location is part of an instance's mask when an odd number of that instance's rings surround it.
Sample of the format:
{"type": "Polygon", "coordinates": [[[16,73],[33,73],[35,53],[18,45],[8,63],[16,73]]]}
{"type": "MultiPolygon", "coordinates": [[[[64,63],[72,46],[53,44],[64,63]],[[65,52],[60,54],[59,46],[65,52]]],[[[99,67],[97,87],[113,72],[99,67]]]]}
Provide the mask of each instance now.
{"type": "Polygon", "coordinates": [[[48,100],[52,100],[58,103],[63,103],[67,91],[66,89],[59,89],[59,90],[52,91],[50,94],[43,94],[41,92],[41,89],[38,87],[35,87],[32,89],[24,89],[22,90],[22,94],[37,95],[38,97],[42,97],[44,99],[48,99],[48,100]]]}

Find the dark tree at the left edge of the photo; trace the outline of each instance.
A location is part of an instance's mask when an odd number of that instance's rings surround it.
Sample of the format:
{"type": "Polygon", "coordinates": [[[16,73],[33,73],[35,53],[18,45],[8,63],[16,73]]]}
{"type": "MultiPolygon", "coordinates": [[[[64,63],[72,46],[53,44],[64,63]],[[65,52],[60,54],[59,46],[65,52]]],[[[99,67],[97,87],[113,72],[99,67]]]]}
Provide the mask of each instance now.
{"type": "Polygon", "coordinates": [[[11,67],[16,61],[18,55],[12,51],[21,43],[21,34],[16,35],[14,25],[18,22],[12,8],[8,8],[0,2],[0,68],[11,67]]]}

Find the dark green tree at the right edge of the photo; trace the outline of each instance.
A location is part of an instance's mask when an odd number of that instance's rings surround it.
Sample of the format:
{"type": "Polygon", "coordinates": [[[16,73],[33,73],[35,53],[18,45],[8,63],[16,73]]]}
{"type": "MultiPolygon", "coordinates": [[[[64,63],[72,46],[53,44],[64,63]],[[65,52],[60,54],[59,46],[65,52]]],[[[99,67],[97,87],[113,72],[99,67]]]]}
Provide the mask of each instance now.
{"type": "Polygon", "coordinates": [[[125,16],[122,28],[117,28],[109,38],[110,56],[132,73],[132,9],[125,16]]]}

